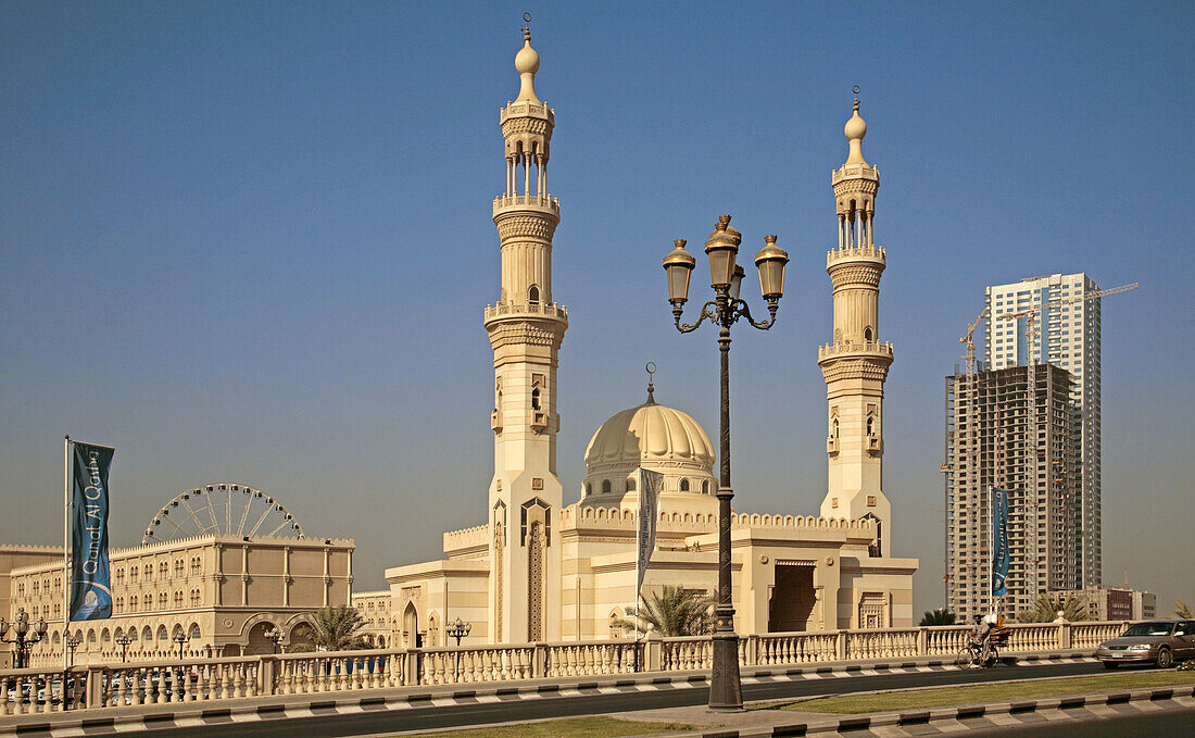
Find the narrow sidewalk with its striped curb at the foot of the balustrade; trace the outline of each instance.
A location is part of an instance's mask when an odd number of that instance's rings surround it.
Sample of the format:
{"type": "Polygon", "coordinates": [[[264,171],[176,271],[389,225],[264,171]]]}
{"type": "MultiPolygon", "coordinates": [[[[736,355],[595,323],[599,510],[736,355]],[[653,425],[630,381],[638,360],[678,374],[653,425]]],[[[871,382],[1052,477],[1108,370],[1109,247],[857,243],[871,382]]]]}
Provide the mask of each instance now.
{"type": "MultiPolygon", "coordinates": [[[[1058,651],[1007,654],[1004,660],[1018,664],[1071,663],[1090,660],[1092,652],[1058,651]]],[[[956,669],[952,655],[832,661],[743,667],[743,683],[796,681],[808,678],[840,678],[901,673],[911,671],[940,671],[956,669]]],[[[443,707],[468,702],[500,702],[576,697],[619,691],[651,691],[661,689],[704,688],[709,671],[646,672],[608,676],[531,679],[525,682],[478,682],[436,687],[402,687],[394,689],[329,691],[307,695],[272,695],[239,700],[176,702],[139,707],[109,707],[68,713],[0,716],[0,738],[37,732],[43,736],[79,736],[153,731],[201,726],[206,724],[251,722],[304,718],[313,714],[353,714],[367,710],[405,710],[443,707]]],[[[704,709],[704,708],[693,708],[704,709]]],[[[753,710],[760,712],[760,710],[753,710]]],[[[791,720],[791,713],[790,713],[791,720]]],[[[704,721],[701,722],[704,724],[704,721]]]]}

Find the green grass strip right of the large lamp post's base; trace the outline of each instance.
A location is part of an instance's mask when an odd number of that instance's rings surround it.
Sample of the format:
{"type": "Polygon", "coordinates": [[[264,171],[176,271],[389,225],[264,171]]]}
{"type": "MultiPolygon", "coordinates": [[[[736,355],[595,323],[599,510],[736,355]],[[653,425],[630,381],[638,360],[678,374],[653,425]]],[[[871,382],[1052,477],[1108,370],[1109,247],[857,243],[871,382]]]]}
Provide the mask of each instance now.
{"type": "Polygon", "coordinates": [[[1195,671],[1138,671],[1092,677],[1068,677],[1065,679],[1025,679],[1004,682],[1001,684],[906,689],[870,695],[819,697],[817,700],[802,702],[779,702],[759,707],[762,709],[785,709],[802,713],[885,713],[921,707],[1007,702],[1009,700],[1025,700],[1031,697],[1079,695],[1191,683],[1195,683],[1195,671]]]}

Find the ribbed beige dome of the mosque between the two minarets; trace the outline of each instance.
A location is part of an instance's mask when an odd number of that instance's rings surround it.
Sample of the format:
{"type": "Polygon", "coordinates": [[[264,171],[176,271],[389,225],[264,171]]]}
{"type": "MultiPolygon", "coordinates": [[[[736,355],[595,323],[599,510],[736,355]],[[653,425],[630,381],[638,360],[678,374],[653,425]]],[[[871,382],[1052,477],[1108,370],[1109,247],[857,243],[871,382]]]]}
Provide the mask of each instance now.
{"type": "Polygon", "coordinates": [[[590,472],[658,462],[680,462],[707,471],[713,468],[713,444],[700,423],[688,413],[657,404],[650,397],[603,422],[586,449],[590,472]]]}

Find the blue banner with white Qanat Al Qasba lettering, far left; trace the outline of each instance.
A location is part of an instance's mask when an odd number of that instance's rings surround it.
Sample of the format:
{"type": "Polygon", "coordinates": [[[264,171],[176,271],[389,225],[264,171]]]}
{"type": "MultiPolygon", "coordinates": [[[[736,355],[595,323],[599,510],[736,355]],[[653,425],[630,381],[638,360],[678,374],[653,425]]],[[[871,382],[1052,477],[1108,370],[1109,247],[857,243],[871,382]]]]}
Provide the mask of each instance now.
{"type": "Polygon", "coordinates": [[[108,470],[112,449],[72,441],[71,599],[72,621],[112,616],[108,565],[108,470]]]}

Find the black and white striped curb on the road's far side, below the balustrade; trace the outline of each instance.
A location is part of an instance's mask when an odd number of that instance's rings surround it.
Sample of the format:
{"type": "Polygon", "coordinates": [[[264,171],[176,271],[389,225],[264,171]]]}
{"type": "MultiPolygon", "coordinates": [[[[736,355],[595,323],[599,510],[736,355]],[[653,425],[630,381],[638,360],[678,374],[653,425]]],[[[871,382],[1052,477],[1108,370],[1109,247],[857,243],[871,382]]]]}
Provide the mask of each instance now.
{"type": "MultiPolygon", "coordinates": [[[[1092,661],[1087,655],[1024,655],[1005,661],[1013,666],[1042,664],[1077,664],[1092,661]]],[[[770,682],[798,682],[802,679],[832,679],[864,677],[877,675],[919,673],[929,671],[957,671],[960,667],[946,658],[918,661],[841,664],[841,665],[796,665],[768,667],[744,667],[743,684],[764,684],[770,682]]],[[[135,732],[141,730],[161,730],[173,727],[198,727],[204,725],[222,725],[228,722],[251,722],[257,720],[277,720],[311,718],[326,715],[347,715],[370,710],[405,710],[429,707],[451,707],[455,705],[476,705],[490,702],[514,702],[526,700],[544,700],[556,697],[581,697],[588,695],[627,694],[635,691],[658,691],[673,689],[692,689],[709,687],[709,673],[681,673],[626,676],[624,678],[606,677],[601,681],[574,681],[563,684],[510,684],[491,687],[482,683],[472,689],[428,688],[428,691],[405,695],[373,696],[337,696],[337,693],[310,695],[310,700],[295,695],[287,702],[271,705],[238,705],[201,707],[196,703],[182,703],[168,713],[147,713],[136,715],[103,715],[90,713],[81,720],[72,713],[54,715],[22,715],[20,724],[0,725],[0,738],[75,738],[79,736],[111,734],[135,732]],[[288,703],[289,702],[289,703],[288,703]],[[37,718],[42,718],[38,720],[37,718]],[[53,721],[51,721],[53,720],[53,721]]],[[[344,693],[339,693],[344,694],[344,693]]],[[[350,693],[351,694],[351,693],[350,693]]],[[[731,733],[728,733],[731,734],[731,733]]]]}

